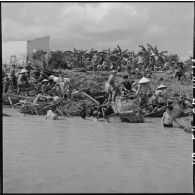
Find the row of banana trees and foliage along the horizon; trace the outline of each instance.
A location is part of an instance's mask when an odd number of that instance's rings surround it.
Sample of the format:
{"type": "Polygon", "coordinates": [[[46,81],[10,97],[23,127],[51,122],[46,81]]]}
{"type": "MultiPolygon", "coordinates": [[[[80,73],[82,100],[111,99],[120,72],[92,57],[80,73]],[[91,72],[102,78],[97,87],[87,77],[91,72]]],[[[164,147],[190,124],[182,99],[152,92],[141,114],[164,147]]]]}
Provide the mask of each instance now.
{"type": "Polygon", "coordinates": [[[106,61],[108,65],[113,64],[116,68],[118,65],[124,64],[125,58],[131,58],[134,65],[137,67],[142,66],[143,69],[154,67],[162,67],[166,61],[178,62],[179,57],[176,54],[167,55],[167,51],[159,51],[157,46],[147,44],[147,46],[139,45],[140,50],[135,53],[128,49],[122,49],[119,45],[113,50],[106,49],[102,51],[96,51],[94,48],[91,50],[79,50],[74,48],[72,51],[52,51],[51,57],[47,57],[48,54],[43,50],[39,50],[33,54],[33,59],[42,61],[43,64],[48,65],[49,69],[66,69],[66,68],[87,68],[92,65],[91,61],[96,54],[98,56],[98,63],[106,61]],[[139,63],[139,60],[142,63],[139,63]]]}

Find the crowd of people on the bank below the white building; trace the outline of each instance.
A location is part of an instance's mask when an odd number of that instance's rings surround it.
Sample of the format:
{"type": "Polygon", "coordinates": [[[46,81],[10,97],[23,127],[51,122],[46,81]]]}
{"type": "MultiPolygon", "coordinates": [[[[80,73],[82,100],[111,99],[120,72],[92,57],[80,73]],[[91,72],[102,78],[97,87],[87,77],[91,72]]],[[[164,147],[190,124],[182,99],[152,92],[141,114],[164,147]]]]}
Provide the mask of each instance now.
{"type": "Polygon", "coordinates": [[[44,69],[33,68],[30,61],[27,66],[17,71],[15,64],[11,69],[4,66],[3,76],[3,92],[25,92],[33,86],[33,89],[39,93],[54,92],[62,98],[70,96],[71,80],[65,78],[63,74],[59,76],[48,75],[44,69]],[[32,71],[33,70],[33,71],[32,71]]]}

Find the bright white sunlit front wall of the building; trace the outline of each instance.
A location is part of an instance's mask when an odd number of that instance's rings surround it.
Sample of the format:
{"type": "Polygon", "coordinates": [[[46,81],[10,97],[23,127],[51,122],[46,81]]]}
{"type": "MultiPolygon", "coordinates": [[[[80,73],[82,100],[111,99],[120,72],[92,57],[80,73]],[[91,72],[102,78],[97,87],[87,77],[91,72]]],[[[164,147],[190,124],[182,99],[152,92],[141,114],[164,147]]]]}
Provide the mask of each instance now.
{"type": "Polygon", "coordinates": [[[2,64],[24,66],[27,59],[27,41],[3,41],[2,64]]]}

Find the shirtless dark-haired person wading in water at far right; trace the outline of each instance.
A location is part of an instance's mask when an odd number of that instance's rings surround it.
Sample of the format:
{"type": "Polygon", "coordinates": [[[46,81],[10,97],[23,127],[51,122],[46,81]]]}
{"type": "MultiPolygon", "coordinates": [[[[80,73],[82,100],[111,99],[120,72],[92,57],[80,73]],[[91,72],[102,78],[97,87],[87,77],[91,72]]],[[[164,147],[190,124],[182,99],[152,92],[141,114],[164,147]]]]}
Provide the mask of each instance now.
{"type": "Polygon", "coordinates": [[[173,122],[175,122],[180,128],[185,128],[177,120],[175,113],[173,112],[173,106],[167,106],[166,112],[164,112],[161,122],[164,127],[173,127],[173,122]]]}

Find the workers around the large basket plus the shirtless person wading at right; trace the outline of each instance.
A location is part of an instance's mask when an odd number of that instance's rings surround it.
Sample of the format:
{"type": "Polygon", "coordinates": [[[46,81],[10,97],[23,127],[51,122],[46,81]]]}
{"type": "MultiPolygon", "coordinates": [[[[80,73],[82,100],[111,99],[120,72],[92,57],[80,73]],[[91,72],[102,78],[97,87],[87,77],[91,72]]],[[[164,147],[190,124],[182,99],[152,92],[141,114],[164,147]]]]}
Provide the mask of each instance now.
{"type": "MultiPolygon", "coordinates": [[[[106,91],[109,94],[109,101],[114,101],[114,96],[117,91],[115,78],[116,71],[112,71],[108,81],[105,83],[106,91]]],[[[148,78],[142,77],[139,82],[136,83],[134,81],[130,82],[128,75],[125,75],[118,86],[121,86],[121,93],[118,93],[120,97],[133,93],[134,98],[139,100],[139,106],[141,108],[150,107],[151,111],[155,112],[156,109],[161,106],[166,107],[166,111],[161,119],[163,127],[173,127],[173,123],[176,123],[179,128],[184,129],[184,131],[191,132],[190,128],[186,128],[177,120],[177,116],[180,111],[175,111],[173,105],[169,105],[166,91],[167,87],[164,84],[161,83],[157,89],[152,92],[150,80],[148,78]]]]}

